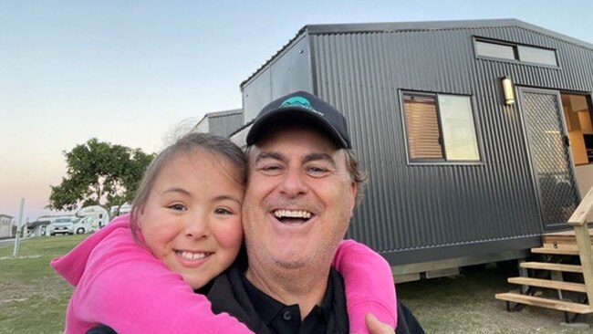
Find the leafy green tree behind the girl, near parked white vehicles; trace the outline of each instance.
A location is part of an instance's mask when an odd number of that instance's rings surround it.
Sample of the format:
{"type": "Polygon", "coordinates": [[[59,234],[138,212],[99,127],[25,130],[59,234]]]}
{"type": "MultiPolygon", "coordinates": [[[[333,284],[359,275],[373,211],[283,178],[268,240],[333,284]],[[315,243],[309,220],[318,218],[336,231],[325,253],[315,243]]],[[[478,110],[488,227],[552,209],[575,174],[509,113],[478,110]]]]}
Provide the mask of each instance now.
{"type": "Polygon", "coordinates": [[[95,138],[64,151],[67,176],[51,186],[48,209],[75,210],[88,205],[108,209],[134,198],[140,179],[154,158],[140,149],[95,138]]]}

